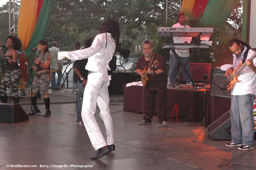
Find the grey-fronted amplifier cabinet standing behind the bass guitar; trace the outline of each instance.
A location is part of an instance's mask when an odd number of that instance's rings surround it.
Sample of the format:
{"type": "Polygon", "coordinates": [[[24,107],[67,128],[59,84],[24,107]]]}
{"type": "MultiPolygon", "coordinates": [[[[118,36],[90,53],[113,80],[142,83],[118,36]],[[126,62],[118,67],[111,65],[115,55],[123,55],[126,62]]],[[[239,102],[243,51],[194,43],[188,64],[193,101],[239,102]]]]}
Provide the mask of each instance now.
{"type": "Polygon", "coordinates": [[[231,91],[227,91],[226,81],[225,71],[212,69],[210,96],[231,98],[231,91]]]}

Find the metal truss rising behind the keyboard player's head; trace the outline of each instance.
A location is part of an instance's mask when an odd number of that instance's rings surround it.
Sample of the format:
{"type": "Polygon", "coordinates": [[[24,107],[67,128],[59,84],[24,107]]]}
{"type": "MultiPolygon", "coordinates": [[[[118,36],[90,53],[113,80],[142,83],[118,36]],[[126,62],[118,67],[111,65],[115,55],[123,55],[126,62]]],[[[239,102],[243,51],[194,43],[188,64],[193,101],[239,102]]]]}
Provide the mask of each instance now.
{"type": "Polygon", "coordinates": [[[165,20],[176,20],[177,13],[180,12],[182,0],[166,0],[165,20]]]}

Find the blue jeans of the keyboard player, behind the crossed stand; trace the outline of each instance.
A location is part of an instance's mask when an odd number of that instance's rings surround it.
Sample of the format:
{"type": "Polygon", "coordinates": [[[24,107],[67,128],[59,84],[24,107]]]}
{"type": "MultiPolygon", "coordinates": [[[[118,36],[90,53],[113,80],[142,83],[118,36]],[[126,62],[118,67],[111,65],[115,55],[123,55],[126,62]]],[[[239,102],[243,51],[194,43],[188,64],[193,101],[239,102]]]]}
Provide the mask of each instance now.
{"type": "MultiPolygon", "coordinates": [[[[179,59],[183,62],[183,64],[188,60],[189,57],[179,57],[179,59]]],[[[174,80],[174,77],[175,77],[175,73],[176,73],[176,67],[178,65],[178,60],[177,58],[174,56],[173,53],[171,53],[171,56],[170,56],[170,68],[169,68],[169,72],[168,72],[168,76],[169,76],[169,79],[170,79],[170,82],[172,82],[174,80]]],[[[183,69],[182,71],[182,74],[185,78],[185,82],[186,83],[190,83],[191,80],[189,79],[189,76],[186,74],[185,72],[185,69],[187,70],[187,72],[191,75],[192,77],[192,74],[191,74],[191,71],[190,71],[190,67],[189,67],[189,62],[187,63],[187,65],[185,66],[185,68],[183,69]]]]}

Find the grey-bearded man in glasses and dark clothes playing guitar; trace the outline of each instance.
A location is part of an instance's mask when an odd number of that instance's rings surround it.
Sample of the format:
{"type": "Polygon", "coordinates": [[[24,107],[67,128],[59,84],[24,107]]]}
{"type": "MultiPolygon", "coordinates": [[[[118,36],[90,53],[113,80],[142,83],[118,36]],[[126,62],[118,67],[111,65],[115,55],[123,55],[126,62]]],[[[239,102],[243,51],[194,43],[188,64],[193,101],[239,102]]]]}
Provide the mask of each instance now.
{"type": "Polygon", "coordinates": [[[144,40],[142,42],[142,51],[144,55],[140,56],[135,67],[138,75],[140,75],[142,78],[145,78],[145,73],[143,70],[145,67],[147,67],[147,75],[149,78],[147,81],[147,86],[144,88],[144,118],[138,124],[151,124],[151,119],[155,111],[161,125],[167,126],[167,68],[163,57],[158,53],[154,53],[153,49],[153,42],[150,40],[144,40]],[[152,66],[156,60],[158,60],[158,66],[150,70],[150,66],[152,66]]]}

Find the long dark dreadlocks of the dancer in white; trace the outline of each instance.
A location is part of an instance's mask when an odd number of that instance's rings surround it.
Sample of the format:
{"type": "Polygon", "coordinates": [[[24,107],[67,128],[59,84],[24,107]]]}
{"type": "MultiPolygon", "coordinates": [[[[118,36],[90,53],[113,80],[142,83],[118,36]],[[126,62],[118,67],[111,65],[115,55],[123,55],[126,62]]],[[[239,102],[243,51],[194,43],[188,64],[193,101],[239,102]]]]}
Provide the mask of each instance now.
{"type": "MultiPolygon", "coordinates": [[[[110,20],[110,19],[105,20],[101,24],[99,33],[106,33],[106,39],[107,39],[107,33],[111,33],[112,38],[116,42],[116,49],[118,48],[119,37],[120,37],[120,27],[116,20],[110,20]]],[[[106,42],[105,48],[107,48],[107,42],[106,42]]]]}

